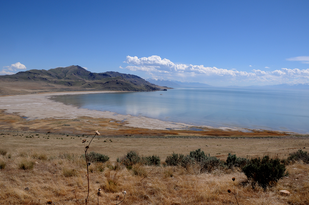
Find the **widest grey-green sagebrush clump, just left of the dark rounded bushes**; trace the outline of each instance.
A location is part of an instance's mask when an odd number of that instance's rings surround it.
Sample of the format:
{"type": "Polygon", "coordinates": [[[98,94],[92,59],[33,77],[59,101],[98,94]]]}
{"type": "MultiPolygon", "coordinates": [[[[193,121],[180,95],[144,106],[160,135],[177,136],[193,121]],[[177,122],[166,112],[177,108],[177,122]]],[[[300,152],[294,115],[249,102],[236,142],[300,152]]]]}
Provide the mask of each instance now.
{"type": "Polygon", "coordinates": [[[191,151],[187,156],[173,153],[171,156],[167,156],[165,163],[170,166],[182,166],[184,168],[199,165],[201,172],[211,172],[223,165],[220,159],[210,156],[210,154],[205,155],[205,152],[201,151],[201,149],[191,151]]]}

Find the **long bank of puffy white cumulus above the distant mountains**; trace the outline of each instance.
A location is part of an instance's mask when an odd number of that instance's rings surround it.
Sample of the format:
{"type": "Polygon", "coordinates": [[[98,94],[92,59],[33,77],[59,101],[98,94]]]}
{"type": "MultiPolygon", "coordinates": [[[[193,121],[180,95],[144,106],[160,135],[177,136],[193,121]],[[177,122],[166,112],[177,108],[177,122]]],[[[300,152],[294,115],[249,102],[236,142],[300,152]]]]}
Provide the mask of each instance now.
{"type": "MultiPolygon", "coordinates": [[[[216,67],[205,67],[204,65],[185,65],[174,64],[170,60],[160,56],[150,56],[138,58],[137,56],[127,56],[124,61],[128,65],[121,69],[132,71],[143,71],[152,76],[165,77],[196,77],[234,80],[234,81],[251,81],[251,82],[268,82],[268,83],[286,83],[286,82],[308,82],[309,69],[287,69],[274,71],[263,71],[253,69],[251,72],[238,71],[236,69],[219,69],[216,67]]],[[[252,67],[250,65],[250,67],[252,67]]],[[[268,68],[268,67],[265,67],[268,68]]]]}

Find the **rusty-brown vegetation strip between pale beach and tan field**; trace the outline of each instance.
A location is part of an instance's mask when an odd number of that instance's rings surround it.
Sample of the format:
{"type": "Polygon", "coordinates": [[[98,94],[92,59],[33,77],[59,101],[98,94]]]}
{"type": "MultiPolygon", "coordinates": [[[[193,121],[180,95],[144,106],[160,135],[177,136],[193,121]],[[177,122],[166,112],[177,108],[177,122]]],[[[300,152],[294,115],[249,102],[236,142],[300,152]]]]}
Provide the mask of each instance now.
{"type": "Polygon", "coordinates": [[[207,129],[194,130],[150,130],[131,128],[127,123],[105,118],[81,116],[77,119],[40,119],[27,120],[17,114],[7,114],[0,110],[0,129],[35,131],[40,133],[66,133],[72,135],[91,135],[93,130],[100,130],[102,136],[287,136],[286,133],[274,131],[239,132],[207,129]],[[113,122],[110,122],[113,121],[113,122]],[[67,125],[67,126],[64,126],[67,125]],[[70,126],[68,126],[70,125],[70,126]]]}

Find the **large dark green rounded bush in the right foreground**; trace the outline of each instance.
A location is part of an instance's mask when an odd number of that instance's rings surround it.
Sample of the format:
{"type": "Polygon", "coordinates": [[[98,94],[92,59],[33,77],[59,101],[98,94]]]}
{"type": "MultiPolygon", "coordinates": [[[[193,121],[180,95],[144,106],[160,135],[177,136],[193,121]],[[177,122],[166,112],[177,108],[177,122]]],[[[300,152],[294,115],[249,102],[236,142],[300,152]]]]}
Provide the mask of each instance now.
{"type": "MultiPolygon", "coordinates": [[[[249,160],[242,170],[248,179],[257,182],[264,190],[276,184],[284,176],[288,176],[288,172],[285,173],[286,166],[280,159],[272,159],[268,155],[262,159],[259,157],[249,160]]],[[[254,188],[253,184],[252,187],[254,188]]]]}

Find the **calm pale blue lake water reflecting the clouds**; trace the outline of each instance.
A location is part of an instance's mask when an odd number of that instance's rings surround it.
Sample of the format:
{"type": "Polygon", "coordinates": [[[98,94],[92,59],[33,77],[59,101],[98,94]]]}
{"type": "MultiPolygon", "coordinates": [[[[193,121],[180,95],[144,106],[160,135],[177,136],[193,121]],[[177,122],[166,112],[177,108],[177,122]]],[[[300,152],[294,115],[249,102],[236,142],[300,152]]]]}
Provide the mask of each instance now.
{"type": "Polygon", "coordinates": [[[155,92],[63,95],[53,99],[92,110],[197,126],[309,133],[309,91],[306,90],[176,88],[155,92]]]}

